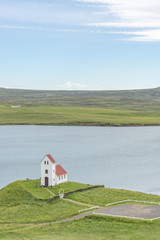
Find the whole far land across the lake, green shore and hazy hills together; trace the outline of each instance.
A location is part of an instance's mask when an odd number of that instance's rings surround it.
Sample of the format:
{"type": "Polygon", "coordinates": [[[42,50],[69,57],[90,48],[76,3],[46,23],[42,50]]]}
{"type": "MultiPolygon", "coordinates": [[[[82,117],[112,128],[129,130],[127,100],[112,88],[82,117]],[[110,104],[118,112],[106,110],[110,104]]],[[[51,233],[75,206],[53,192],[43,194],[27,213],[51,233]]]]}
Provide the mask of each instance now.
{"type": "Polygon", "coordinates": [[[0,125],[160,125],[160,88],[31,91],[0,88],[0,125]],[[20,104],[20,108],[11,108],[20,104]]]}

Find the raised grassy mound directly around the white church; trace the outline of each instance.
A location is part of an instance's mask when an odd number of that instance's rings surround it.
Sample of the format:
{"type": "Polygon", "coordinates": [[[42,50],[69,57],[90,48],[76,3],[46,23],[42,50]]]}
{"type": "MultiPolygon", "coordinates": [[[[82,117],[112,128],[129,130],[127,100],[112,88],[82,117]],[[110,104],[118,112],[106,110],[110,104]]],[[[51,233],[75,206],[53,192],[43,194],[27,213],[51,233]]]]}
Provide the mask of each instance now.
{"type": "MultiPolygon", "coordinates": [[[[61,188],[67,193],[87,187],[89,187],[87,184],[66,182],[48,188],[54,195],[58,195],[61,188]]],[[[53,195],[46,188],[41,187],[40,179],[19,180],[0,189],[0,206],[15,206],[34,202],[35,200],[47,200],[49,198],[53,198],[53,195]]]]}

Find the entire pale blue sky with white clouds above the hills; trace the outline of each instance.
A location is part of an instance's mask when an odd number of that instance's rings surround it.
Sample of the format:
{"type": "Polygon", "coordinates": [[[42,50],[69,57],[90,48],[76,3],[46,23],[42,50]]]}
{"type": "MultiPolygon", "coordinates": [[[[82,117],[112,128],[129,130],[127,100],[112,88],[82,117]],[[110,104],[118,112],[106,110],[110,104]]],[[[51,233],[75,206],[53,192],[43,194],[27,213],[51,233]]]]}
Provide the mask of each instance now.
{"type": "Polygon", "coordinates": [[[160,87],[159,0],[0,0],[0,87],[160,87]]]}

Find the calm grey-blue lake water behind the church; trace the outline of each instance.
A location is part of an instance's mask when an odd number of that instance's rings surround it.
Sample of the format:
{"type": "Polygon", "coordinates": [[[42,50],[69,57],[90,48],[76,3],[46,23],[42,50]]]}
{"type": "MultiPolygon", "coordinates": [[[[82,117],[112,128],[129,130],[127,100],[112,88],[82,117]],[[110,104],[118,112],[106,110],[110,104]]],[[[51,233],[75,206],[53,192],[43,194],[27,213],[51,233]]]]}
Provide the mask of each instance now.
{"type": "Polygon", "coordinates": [[[46,153],[70,181],[160,194],[160,127],[0,126],[0,188],[39,178],[46,153]]]}

